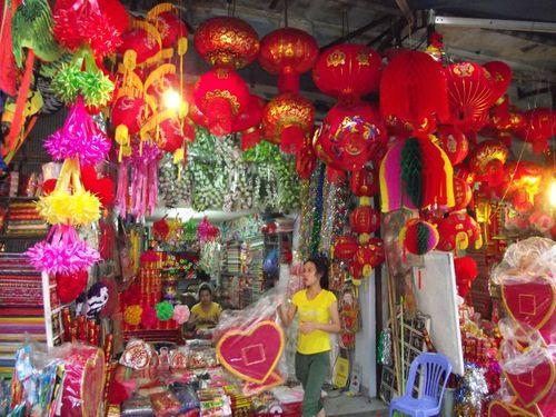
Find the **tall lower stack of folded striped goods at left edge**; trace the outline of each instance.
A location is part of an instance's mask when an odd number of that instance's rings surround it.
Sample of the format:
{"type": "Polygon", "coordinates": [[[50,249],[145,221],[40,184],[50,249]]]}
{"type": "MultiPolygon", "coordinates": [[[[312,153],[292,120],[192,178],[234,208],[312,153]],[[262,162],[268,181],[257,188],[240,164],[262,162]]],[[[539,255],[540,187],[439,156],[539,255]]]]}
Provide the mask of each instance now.
{"type": "Polygon", "coordinates": [[[31,337],[46,341],[42,280],[19,254],[0,254],[0,373],[10,374],[14,353],[31,337]]]}

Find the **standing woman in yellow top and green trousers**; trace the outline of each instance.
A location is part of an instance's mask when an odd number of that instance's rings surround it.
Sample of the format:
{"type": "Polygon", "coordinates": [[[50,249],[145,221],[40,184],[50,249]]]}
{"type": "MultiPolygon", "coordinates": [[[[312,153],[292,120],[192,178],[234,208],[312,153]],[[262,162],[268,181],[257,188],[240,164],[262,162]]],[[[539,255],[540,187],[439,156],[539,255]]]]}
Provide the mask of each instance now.
{"type": "Polygon", "coordinates": [[[302,417],[322,417],[320,394],[330,371],[330,334],[340,331],[338,302],[327,290],[328,259],[309,258],[304,265],[304,284],[306,289],[294,295],[291,305],[279,306],[278,314],[285,326],[299,315],[296,376],[305,390],[302,417]]]}

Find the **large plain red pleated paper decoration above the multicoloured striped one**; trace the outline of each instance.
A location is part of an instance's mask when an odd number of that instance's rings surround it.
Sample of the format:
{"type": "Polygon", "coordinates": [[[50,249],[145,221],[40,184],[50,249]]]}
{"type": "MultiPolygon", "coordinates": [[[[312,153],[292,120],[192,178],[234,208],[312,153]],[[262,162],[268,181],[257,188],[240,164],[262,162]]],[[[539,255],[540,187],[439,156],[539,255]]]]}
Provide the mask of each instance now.
{"type": "Polygon", "coordinates": [[[449,117],[446,75],[428,53],[396,54],[380,79],[380,113],[388,127],[408,135],[429,133],[449,117]],[[399,130],[399,127],[398,127],[399,130]]]}

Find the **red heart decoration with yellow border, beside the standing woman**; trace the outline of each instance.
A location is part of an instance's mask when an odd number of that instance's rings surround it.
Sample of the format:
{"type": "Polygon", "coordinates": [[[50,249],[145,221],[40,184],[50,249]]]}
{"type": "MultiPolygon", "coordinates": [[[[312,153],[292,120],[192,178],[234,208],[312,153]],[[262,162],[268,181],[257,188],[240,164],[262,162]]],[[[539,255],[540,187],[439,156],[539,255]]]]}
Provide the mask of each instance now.
{"type": "Polygon", "coordinates": [[[282,351],[284,331],[271,320],[230,329],[216,346],[218,359],[226,369],[256,384],[262,384],[272,374],[282,351]]]}

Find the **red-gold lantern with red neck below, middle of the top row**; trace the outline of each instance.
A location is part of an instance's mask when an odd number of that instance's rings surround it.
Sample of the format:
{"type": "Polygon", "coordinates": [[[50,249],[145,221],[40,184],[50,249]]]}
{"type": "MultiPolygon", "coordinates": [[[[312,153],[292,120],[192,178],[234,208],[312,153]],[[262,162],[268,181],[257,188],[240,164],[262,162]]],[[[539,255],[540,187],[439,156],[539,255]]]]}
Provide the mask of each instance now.
{"type": "Polygon", "coordinates": [[[281,28],[260,41],[259,63],[278,75],[278,92],[299,92],[299,76],[315,64],[318,44],[309,33],[296,28],[281,28]]]}

